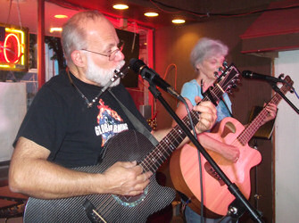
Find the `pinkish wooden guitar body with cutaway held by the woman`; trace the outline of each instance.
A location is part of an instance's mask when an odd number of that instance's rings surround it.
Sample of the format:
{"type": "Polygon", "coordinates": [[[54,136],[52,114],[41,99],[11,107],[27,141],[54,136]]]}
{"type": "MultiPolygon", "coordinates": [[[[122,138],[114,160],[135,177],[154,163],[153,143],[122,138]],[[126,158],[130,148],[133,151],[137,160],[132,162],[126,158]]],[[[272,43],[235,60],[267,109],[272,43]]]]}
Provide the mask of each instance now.
{"type": "MultiPolygon", "coordinates": [[[[225,118],[220,122],[217,133],[207,133],[209,136],[228,145],[235,145],[240,150],[240,157],[236,163],[225,160],[220,154],[209,151],[212,159],[228,178],[237,185],[242,194],[248,199],[250,195],[250,169],[262,161],[261,153],[248,144],[241,145],[237,136],[244,130],[244,126],[233,118],[225,118]]],[[[235,200],[230,194],[228,186],[217,176],[210,163],[201,155],[203,169],[203,202],[205,217],[218,218],[226,215],[228,205],[235,200]]],[[[170,175],[177,190],[191,198],[188,204],[197,213],[201,210],[201,188],[197,149],[185,145],[172,154],[170,160],[170,175]]]]}

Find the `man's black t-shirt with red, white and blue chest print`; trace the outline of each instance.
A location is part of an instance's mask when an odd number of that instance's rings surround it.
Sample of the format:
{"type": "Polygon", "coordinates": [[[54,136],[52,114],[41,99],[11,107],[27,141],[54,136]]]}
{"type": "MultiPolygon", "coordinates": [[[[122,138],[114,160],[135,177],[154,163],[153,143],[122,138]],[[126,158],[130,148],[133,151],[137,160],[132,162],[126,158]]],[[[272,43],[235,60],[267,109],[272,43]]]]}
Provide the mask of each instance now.
{"type": "MultiPolygon", "coordinates": [[[[71,78],[89,102],[101,90],[73,75],[71,78]]],[[[150,130],[125,87],[121,84],[112,87],[112,93],[150,130]]],[[[108,91],[87,108],[85,99],[63,72],[38,91],[16,140],[26,137],[51,151],[49,161],[65,167],[79,167],[96,164],[105,142],[126,129],[135,128],[108,91]]]]}

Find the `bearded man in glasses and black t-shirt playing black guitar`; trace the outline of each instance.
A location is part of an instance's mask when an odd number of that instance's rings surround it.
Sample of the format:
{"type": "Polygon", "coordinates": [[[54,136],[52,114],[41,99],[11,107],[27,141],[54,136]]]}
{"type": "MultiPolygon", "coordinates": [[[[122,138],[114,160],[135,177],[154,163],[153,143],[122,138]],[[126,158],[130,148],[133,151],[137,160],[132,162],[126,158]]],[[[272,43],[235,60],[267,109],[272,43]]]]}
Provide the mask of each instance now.
{"type": "MultiPolygon", "coordinates": [[[[21,124],[9,171],[13,192],[38,199],[144,192],[153,173],[137,161],[115,161],[101,173],[73,169],[98,164],[112,136],[135,129],[114,96],[151,130],[120,79],[109,91],[101,91],[114,70],[124,65],[122,44],[112,23],[99,12],[79,12],[63,26],[68,68],[41,87],[21,124]]],[[[198,133],[211,128],[216,119],[212,103],[194,109],[201,112],[198,133]]],[[[153,135],[160,141],[167,132],[153,135]]]]}

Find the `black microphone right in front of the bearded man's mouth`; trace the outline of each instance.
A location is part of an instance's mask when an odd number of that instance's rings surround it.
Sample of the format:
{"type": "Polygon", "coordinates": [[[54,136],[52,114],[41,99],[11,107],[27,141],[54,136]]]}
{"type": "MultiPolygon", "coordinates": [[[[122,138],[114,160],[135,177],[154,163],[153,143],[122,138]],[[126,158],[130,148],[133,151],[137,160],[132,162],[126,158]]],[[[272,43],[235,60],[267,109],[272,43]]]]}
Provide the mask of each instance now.
{"type": "MultiPolygon", "coordinates": [[[[145,62],[132,58],[129,60],[129,69],[140,73],[141,77],[147,80],[150,84],[154,84],[157,87],[162,88],[162,90],[170,93],[177,97],[180,101],[182,98],[176,90],[170,86],[163,78],[160,77],[153,69],[150,69],[145,65],[145,62]]],[[[184,100],[184,99],[183,99],[184,100]]]]}

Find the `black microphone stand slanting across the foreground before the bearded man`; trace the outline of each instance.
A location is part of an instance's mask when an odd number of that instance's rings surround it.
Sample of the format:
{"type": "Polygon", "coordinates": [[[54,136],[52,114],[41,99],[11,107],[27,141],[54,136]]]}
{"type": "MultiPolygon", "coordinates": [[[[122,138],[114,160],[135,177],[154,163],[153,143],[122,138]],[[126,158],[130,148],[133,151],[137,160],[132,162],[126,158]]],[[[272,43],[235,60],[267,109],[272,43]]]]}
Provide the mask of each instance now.
{"type": "Polygon", "coordinates": [[[244,213],[244,211],[247,210],[251,214],[252,219],[255,222],[264,222],[262,220],[262,215],[258,211],[255,211],[253,209],[252,205],[247,201],[245,196],[240,192],[237,185],[233,184],[229,180],[229,178],[225,175],[225,173],[220,169],[217,163],[212,160],[210,154],[204,150],[203,146],[199,144],[199,142],[197,141],[195,136],[193,136],[189,128],[187,128],[184,122],[179,119],[179,116],[175,113],[175,111],[171,109],[169,103],[167,103],[165,99],[162,97],[161,92],[154,86],[154,84],[151,81],[149,81],[149,84],[150,86],[148,87],[148,89],[154,95],[154,98],[158,99],[162,103],[166,111],[170,113],[170,116],[174,120],[176,120],[179,127],[185,132],[185,134],[190,139],[190,141],[196,146],[197,150],[199,150],[199,152],[203,154],[203,157],[212,165],[212,168],[219,174],[220,178],[228,186],[229,192],[236,197],[236,200],[231,203],[231,205],[233,204],[235,206],[230,205],[228,211],[231,212],[234,216],[240,217],[244,213]],[[237,208],[237,206],[240,207],[237,208]],[[238,211],[242,211],[242,213],[238,213],[238,211]]]}

